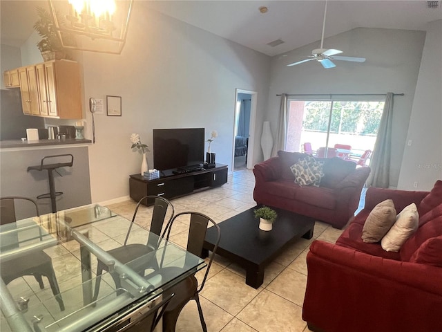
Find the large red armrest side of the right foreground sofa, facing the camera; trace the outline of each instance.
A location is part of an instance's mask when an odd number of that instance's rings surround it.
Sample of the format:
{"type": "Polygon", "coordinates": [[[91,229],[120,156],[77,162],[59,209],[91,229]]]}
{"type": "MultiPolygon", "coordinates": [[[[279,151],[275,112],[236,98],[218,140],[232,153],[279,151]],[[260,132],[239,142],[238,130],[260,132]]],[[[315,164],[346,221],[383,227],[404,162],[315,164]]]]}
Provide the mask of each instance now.
{"type": "Polygon", "coordinates": [[[314,241],[307,270],[302,319],[324,331],[442,331],[442,268],[314,241]]]}

